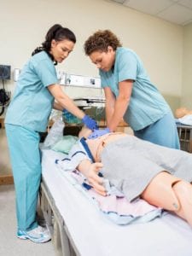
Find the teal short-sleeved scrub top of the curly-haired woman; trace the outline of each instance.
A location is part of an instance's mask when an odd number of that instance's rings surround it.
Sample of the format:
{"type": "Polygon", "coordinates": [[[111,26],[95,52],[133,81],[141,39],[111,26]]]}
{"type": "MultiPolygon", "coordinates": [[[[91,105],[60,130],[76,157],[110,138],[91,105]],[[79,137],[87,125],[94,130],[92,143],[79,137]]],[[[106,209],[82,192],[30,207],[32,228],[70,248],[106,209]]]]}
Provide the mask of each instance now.
{"type": "Polygon", "coordinates": [[[124,119],[134,131],[142,130],[161,119],[170,108],[159,90],[151,83],[143,62],[131,49],[116,49],[113,70],[100,70],[102,88],[110,87],[114,96],[119,95],[119,82],[134,81],[131,100],[124,119]]]}

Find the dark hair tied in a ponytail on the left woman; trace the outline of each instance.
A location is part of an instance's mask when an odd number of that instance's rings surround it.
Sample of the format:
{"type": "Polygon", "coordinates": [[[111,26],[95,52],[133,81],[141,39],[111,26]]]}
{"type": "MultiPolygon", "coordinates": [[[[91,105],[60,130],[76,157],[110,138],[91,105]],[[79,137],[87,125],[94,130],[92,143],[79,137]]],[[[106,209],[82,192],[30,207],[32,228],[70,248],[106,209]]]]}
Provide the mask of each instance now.
{"type": "Polygon", "coordinates": [[[42,46],[34,49],[32,55],[36,55],[38,52],[44,50],[50,56],[51,60],[54,61],[53,56],[49,53],[51,48],[51,41],[53,39],[55,39],[55,41],[62,41],[67,39],[72,41],[74,44],[76,43],[76,37],[71,30],[69,30],[67,27],[61,26],[60,24],[55,24],[49,28],[42,46]]]}

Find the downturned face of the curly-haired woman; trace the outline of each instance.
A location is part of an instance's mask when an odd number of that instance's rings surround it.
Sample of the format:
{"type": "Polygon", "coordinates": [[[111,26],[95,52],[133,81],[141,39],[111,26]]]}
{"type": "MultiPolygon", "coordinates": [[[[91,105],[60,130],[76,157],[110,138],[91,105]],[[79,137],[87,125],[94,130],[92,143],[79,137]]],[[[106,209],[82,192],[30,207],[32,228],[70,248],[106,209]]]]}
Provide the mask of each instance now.
{"type": "Polygon", "coordinates": [[[96,64],[96,67],[108,72],[113,67],[115,61],[115,51],[111,46],[108,46],[108,51],[96,50],[90,55],[90,60],[96,64]]]}

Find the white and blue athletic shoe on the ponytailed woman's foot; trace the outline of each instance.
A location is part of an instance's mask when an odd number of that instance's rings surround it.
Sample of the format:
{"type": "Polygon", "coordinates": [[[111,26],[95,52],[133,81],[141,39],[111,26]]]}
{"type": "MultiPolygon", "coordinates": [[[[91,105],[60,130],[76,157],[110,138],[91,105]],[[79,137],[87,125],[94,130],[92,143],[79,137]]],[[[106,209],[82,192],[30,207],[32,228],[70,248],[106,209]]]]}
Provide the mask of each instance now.
{"type": "Polygon", "coordinates": [[[46,242],[51,239],[49,230],[41,226],[30,231],[18,230],[17,237],[24,240],[29,239],[34,242],[46,242]]]}

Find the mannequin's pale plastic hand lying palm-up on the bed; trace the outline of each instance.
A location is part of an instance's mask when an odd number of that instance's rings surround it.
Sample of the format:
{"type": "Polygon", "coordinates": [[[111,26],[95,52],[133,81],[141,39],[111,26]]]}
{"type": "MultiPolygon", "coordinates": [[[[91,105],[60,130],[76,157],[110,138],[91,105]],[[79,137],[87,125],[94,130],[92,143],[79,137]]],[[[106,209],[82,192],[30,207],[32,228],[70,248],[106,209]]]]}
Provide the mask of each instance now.
{"type": "Polygon", "coordinates": [[[106,189],[102,185],[103,178],[98,176],[98,172],[102,169],[102,163],[91,164],[89,170],[84,172],[84,176],[87,178],[90,186],[96,190],[100,195],[107,195],[106,189]]]}

